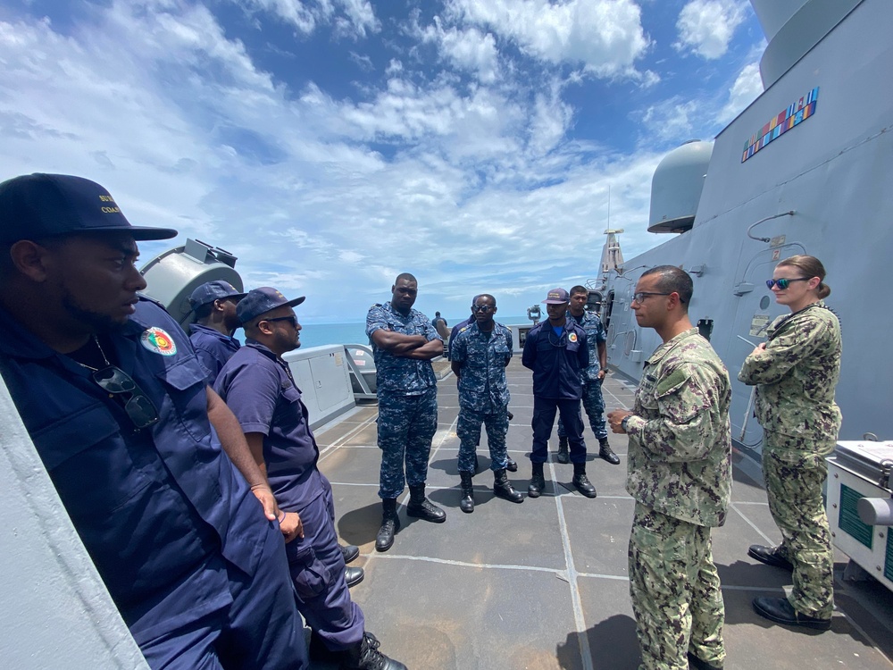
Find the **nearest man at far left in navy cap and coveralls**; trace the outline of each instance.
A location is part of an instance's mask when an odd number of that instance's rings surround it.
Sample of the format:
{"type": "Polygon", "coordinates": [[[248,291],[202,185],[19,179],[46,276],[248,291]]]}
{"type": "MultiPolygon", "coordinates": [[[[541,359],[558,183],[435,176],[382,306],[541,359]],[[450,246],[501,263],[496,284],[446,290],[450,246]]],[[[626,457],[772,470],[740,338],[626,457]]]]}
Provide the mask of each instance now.
{"type": "Polygon", "coordinates": [[[186,333],[138,296],[135,240],[176,234],[79,177],[0,184],[0,372],[150,667],[305,667],[270,487],[186,333]]]}

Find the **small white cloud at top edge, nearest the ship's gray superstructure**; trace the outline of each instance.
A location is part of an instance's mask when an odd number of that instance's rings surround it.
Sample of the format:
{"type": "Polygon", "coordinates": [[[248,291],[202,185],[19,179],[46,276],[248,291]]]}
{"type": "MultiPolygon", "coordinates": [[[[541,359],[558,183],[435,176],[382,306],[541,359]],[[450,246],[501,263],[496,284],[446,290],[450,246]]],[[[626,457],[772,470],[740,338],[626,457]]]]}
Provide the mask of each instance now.
{"type": "Polygon", "coordinates": [[[675,46],[707,60],[719,58],[746,15],[747,4],[741,0],[690,0],[676,22],[679,41],[675,46]]]}

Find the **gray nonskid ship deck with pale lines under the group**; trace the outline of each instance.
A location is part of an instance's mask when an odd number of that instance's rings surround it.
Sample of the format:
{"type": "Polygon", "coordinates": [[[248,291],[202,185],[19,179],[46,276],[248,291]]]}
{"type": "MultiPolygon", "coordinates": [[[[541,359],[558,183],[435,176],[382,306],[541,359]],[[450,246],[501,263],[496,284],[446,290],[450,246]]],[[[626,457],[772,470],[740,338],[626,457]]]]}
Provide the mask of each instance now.
{"type": "MultiPolygon", "coordinates": [[[[526,494],[530,372],[513,360],[508,374],[514,414],[508,446],[519,464],[509,478],[526,494]]],[[[627,383],[608,376],[604,390],[608,410],[630,406],[633,389],[627,383]]],[[[351,593],[381,650],[411,670],[637,668],[627,576],[633,500],[624,489],[625,436],[610,436],[621,465],[609,465],[593,455],[597,442],[588,427],[584,433],[596,499],[572,489],[572,465],[553,460],[547,464],[546,494],[521,505],[494,498],[492,474],[482,470],[474,478],[474,512],[466,515],[458,507],[457,415],[450,376],[439,382],[428,478],[429,496],[447,510],[447,522],[412,519],[401,507],[403,527],[386,553],[375,551],[380,524],[376,407],[358,407],[316,434],[320,467],[335,492],[338,534],[360,546],[354,565],[366,571],[351,593]]],[[[553,459],[556,443],[553,434],[553,459]]],[[[481,468],[488,468],[486,439],[478,453],[481,468]]],[[[876,582],[838,579],[837,611],[831,630],[822,634],[774,626],[755,615],[750,601],[781,595],[790,575],[747,557],[747,547],[779,539],[764,490],[736,468],[729,520],[714,532],[726,605],[726,668],[893,668],[893,597],[876,582]]],[[[846,557],[837,560],[840,577],[846,557]]]]}

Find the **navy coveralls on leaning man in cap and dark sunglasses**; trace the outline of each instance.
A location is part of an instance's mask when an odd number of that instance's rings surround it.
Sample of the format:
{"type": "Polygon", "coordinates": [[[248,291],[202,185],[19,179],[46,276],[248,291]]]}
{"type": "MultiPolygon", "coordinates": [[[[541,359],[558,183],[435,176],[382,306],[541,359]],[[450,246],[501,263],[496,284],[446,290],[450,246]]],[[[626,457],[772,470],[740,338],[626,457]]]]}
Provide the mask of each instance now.
{"type": "Polygon", "coordinates": [[[288,364],[246,339],[223,366],[216,390],[242,431],[263,434],[263,461],[276,502],[304,524],[304,538],[285,546],[298,609],[332,651],[354,646],[363,640],[363,611],[347,590],[331,485],[316,467],[320,450],[288,364]]]}

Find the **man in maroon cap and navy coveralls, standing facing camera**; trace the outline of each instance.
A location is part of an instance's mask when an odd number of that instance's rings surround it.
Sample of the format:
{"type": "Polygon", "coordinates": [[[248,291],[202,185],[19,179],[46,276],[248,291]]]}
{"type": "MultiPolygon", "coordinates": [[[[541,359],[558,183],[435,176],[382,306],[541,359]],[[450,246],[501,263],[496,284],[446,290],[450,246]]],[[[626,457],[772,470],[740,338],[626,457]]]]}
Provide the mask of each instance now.
{"type": "Polygon", "coordinates": [[[572,484],[587,498],[595,498],[596,487],[586,476],[586,444],[580,418],[580,373],[589,364],[586,331],[567,318],[570,296],[566,290],[550,290],[543,302],[549,318],[530,329],[522,354],[522,364],[533,371],[533,473],[527,495],[538,498],[546,488],[543,465],[548,458],[555,413],[559,413],[571,447],[572,484]]]}

